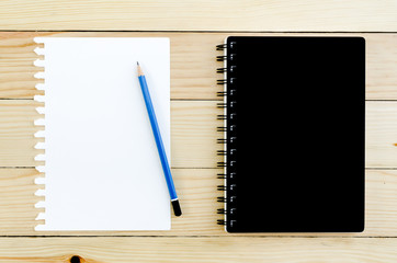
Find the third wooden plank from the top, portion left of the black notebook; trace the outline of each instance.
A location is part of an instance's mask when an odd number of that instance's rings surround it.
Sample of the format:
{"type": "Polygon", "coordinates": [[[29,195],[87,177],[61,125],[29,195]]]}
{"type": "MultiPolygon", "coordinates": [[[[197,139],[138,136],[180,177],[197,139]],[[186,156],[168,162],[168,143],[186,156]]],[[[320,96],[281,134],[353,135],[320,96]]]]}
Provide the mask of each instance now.
{"type": "MultiPolygon", "coordinates": [[[[215,168],[222,158],[216,151],[220,136],[216,127],[222,121],[216,114],[222,110],[215,101],[171,102],[171,164],[173,168],[215,168]]],[[[0,101],[0,167],[34,167],[34,157],[42,152],[34,149],[38,141],[34,119],[41,115],[31,100],[0,101]]]]}

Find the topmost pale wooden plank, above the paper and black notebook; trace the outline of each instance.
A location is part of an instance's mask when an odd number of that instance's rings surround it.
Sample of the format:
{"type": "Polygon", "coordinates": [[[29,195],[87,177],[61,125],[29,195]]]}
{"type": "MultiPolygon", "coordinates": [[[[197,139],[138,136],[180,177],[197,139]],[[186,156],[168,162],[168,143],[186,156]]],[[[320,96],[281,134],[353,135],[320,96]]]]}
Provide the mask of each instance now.
{"type": "Polygon", "coordinates": [[[0,30],[396,32],[396,1],[2,0],[0,30]]]}

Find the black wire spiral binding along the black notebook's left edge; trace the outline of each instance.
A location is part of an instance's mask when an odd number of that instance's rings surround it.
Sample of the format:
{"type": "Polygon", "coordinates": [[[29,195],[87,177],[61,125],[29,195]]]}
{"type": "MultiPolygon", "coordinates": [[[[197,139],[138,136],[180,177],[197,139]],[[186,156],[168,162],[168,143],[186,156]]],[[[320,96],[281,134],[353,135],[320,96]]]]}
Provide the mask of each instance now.
{"type": "Polygon", "coordinates": [[[224,169],[224,173],[218,173],[217,179],[224,180],[223,185],[218,185],[217,190],[224,193],[223,196],[217,197],[217,202],[224,203],[224,208],[217,209],[217,214],[224,215],[224,219],[218,219],[217,224],[232,227],[237,224],[235,220],[236,208],[232,205],[236,203],[236,195],[234,192],[236,191],[236,183],[234,180],[236,179],[236,153],[237,150],[232,148],[234,144],[237,141],[236,137],[236,123],[237,119],[237,103],[232,101],[232,96],[236,95],[237,90],[237,78],[234,77],[234,73],[237,72],[237,66],[232,65],[237,58],[235,53],[237,48],[236,42],[229,42],[228,44],[222,44],[216,46],[216,50],[224,50],[224,55],[216,56],[217,61],[224,61],[225,66],[216,69],[217,73],[224,75],[225,78],[218,79],[216,83],[218,85],[224,87],[224,91],[217,92],[218,98],[224,98],[224,101],[217,103],[218,108],[224,110],[224,114],[217,115],[217,119],[224,121],[224,125],[217,127],[217,132],[222,133],[222,138],[217,139],[217,144],[224,145],[223,150],[217,151],[217,156],[222,156],[224,158],[223,161],[217,162],[218,168],[224,169]],[[226,76],[230,73],[230,76],[226,76]],[[227,85],[227,89],[226,89],[227,85]],[[230,113],[228,113],[230,111],[230,113]],[[232,112],[231,112],[232,111],[232,112]],[[229,196],[228,196],[229,195],[229,196]],[[228,220],[226,220],[227,217],[228,220]]]}

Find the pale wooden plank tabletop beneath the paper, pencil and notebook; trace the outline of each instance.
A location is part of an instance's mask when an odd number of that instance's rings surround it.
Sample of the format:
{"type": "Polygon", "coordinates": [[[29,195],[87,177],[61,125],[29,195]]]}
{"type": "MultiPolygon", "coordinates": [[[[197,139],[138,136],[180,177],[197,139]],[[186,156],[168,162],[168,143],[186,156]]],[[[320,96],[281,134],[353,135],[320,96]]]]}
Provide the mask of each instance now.
{"type": "Polygon", "coordinates": [[[0,262],[397,262],[397,1],[2,0],[0,30],[0,262]],[[364,232],[229,235],[216,225],[215,45],[228,35],[366,38],[364,232]],[[172,172],[184,211],[171,231],[34,231],[34,36],[170,37],[172,172]]]}

